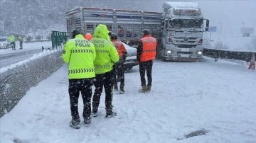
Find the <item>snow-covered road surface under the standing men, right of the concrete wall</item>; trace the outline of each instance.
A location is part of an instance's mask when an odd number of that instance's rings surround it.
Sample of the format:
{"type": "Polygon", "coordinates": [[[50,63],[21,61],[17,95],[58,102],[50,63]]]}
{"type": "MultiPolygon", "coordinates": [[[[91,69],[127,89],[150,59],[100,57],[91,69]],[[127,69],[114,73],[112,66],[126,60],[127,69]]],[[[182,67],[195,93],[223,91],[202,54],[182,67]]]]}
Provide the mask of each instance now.
{"type": "MultiPolygon", "coordinates": [[[[256,142],[255,71],[245,64],[204,59],[154,61],[153,85],[146,94],[138,93],[139,67],[134,67],[125,74],[125,93],[114,93],[117,117],[105,118],[103,93],[100,116],[92,118],[90,127],[81,123],[79,130],[68,124],[64,65],[0,119],[0,142],[256,142]],[[203,135],[188,137],[195,131],[203,135]]],[[[82,117],[82,98],[79,111],[82,117]]]]}

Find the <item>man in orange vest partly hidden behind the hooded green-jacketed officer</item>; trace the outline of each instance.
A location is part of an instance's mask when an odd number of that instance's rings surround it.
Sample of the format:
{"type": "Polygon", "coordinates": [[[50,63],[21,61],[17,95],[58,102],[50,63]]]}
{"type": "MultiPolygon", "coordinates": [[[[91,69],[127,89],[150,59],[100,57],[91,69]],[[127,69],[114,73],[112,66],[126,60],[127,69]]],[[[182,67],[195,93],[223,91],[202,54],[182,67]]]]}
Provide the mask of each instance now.
{"type": "Polygon", "coordinates": [[[127,50],[121,41],[117,40],[117,34],[111,33],[110,39],[114,44],[114,47],[117,48],[117,52],[119,55],[119,62],[114,67],[114,90],[118,91],[117,87],[117,79],[120,79],[120,93],[124,93],[124,60],[127,57],[127,50]],[[116,79],[117,78],[117,79],[116,79]]]}

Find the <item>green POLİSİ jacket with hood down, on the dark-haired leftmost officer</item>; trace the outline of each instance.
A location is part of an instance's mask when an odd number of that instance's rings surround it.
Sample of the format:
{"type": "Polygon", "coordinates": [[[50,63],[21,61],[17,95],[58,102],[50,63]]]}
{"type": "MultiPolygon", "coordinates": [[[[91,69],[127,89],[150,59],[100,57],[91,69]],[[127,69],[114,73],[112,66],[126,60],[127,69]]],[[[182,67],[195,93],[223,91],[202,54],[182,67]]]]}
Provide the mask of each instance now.
{"type": "Polygon", "coordinates": [[[69,63],[68,79],[85,79],[95,77],[96,52],[92,42],[82,35],[68,40],[63,50],[63,61],[69,63]]]}

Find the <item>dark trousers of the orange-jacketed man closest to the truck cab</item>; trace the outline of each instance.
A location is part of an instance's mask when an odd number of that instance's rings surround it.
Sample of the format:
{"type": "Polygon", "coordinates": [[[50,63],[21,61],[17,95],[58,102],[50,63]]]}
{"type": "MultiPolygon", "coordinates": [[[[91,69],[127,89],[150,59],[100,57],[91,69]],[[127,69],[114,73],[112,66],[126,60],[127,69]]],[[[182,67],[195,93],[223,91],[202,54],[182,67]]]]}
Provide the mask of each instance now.
{"type": "Polygon", "coordinates": [[[147,76],[148,86],[152,84],[152,67],[153,61],[139,62],[139,74],[141,77],[142,86],[146,86],[145,73],[147,76]]]}

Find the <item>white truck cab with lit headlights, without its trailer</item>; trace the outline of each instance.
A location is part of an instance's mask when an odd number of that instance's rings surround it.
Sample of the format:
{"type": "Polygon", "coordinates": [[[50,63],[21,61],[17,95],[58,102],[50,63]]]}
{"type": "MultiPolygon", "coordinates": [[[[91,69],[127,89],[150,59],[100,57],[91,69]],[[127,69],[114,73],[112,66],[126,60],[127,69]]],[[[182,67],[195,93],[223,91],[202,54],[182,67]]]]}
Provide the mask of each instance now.
{"type": "Polygon", "coordinates": [[[164,2],[161,59],[201,62],[203,55],[203,14],[194,2],[164,2]]]}

